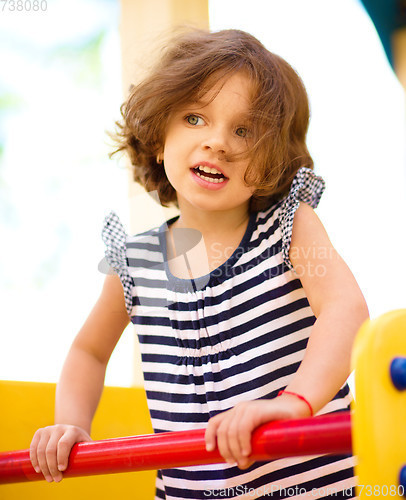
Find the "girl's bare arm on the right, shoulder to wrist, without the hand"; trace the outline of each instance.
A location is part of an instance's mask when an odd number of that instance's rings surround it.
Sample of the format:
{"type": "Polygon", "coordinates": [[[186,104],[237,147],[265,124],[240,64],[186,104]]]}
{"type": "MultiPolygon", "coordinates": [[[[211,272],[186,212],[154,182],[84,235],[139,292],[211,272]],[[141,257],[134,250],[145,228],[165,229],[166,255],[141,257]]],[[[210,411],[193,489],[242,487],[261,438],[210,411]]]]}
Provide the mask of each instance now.
{"type": "Polygon", "coordinates": [[[294,217],[290,260],[317,321],[287,390],[305,396],[317,412],[348,378],[354,338],[369,313],[353,274],[305,203],[294,217]]]}

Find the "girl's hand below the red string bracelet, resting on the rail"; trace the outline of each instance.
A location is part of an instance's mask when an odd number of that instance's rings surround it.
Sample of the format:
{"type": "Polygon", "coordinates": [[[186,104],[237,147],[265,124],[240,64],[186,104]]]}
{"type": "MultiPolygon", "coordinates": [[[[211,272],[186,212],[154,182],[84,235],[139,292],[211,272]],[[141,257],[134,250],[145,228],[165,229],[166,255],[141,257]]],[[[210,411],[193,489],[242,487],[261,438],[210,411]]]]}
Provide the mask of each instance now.
{"type": "Polygon", "coordinates": [[[231,410],[219,413],[209,420],[205,439],[207,451],[217,446],[221,456],[230,464],[237,463],[246,469],[254,462],[251,454],[252,431],[272,420],[286,420],[309,416],[305,403],[296,397],[283,394],[271,400],[238,403],[231,410]]]}

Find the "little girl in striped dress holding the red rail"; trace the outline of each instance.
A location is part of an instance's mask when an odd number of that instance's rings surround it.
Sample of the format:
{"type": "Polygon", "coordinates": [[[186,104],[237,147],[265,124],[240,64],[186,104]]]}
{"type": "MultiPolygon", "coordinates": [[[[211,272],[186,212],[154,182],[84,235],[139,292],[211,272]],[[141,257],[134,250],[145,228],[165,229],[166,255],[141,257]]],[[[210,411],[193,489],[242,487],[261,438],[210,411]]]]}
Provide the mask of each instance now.
{"type": "Polygon", "coordinates": [[[33,466],[59,481],[73,444],[90,439],[131,321],[155,432],[206,428],[207,449],[225,459],[159,471],[156,498],[353,498],[351,456],[250,460],[260,424],[348,409],[351,347],[368,316],[313,210],[324,182],[300,78],[247,33],[191,31],[122,114],[118,151],[180,215],[136,236],[106,218],[115,273],[69,352],[33,466]]]}

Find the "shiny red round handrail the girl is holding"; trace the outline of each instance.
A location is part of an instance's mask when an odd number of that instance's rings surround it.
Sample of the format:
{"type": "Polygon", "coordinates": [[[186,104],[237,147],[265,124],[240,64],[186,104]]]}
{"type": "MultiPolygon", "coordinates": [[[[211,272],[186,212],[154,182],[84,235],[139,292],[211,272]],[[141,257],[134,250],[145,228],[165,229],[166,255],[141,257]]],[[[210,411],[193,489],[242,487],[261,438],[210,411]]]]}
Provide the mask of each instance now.
{"type": "MultiPolygon", "coordinates": [[[[112,474],[224,462],[206,451],[204,429],[77,443],[64,477],[112,474]]],[[[319,417],[279,420],[252,435],[255,461],[318,454],[351,453],[351,416],[340,412],[319,417]]],[[[43,479],[33,469],[29,450],[0,453],[0,484],[43,479]]]]}

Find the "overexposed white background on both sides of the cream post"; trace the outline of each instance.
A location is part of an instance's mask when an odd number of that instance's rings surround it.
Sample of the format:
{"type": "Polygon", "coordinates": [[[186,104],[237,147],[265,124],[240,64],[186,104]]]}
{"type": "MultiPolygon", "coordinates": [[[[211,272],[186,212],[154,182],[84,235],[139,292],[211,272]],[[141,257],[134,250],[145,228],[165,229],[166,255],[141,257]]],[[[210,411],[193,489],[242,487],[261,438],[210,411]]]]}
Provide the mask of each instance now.
{"type": "MultiPolygon", "coordinates": [[[[128,88],[120,19],[118,0],[0,6],[3,380],[58,379],[103,283],[104,216],[115,210],[131,231],[149,223],[149,209],[134,213],[143,195],[129,189],[125,162],[108,158],[106,132],[128,88]]],[[[405,307],[405,92],[363,4],[210,0],[209,21],[252,33],[298,71],[311,104],[309,149],[327,182],[318,214],[371,316],[405,307]]],[[[134,382],[135,350],[129,327],[108,385],[134,382]]]]}

